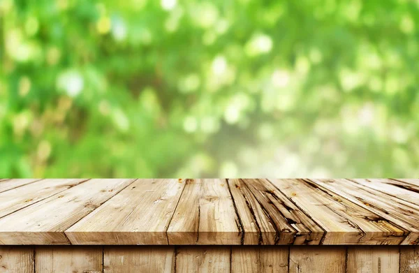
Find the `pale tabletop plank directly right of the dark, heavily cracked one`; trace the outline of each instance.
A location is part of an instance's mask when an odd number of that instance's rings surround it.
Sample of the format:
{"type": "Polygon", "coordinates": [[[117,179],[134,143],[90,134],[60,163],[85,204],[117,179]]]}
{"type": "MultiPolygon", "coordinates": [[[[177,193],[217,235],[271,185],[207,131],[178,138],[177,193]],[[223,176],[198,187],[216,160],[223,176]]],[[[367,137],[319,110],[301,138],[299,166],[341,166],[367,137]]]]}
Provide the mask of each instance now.
{"type": "Polygon", "coordinates": [[[405,231],[374,212],[298,179],[272,179],[290,200],[326,230],[322,244],[399,244],[405,231]]]}

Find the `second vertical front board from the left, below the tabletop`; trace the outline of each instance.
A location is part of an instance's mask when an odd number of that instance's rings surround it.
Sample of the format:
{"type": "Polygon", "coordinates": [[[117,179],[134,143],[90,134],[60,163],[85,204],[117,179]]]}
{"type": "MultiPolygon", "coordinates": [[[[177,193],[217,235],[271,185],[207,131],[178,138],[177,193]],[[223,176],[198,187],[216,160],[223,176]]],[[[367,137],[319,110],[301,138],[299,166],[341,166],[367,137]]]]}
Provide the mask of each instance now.
{"type": "Polygon", "coordinates": [[[36,272],[102,272],[102,246],[37,246],[36,272]]]}

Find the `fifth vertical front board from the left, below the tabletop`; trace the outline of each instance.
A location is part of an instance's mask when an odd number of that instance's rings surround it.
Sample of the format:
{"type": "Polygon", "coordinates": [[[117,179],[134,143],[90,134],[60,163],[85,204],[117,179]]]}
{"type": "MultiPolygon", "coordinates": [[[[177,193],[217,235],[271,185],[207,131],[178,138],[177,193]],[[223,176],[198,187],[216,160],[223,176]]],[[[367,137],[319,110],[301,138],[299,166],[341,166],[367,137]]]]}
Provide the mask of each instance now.
{"type": "Polygon", "coordinates": [[[233,246],[231,272],[288,273],[288,246],[233,246]]]}

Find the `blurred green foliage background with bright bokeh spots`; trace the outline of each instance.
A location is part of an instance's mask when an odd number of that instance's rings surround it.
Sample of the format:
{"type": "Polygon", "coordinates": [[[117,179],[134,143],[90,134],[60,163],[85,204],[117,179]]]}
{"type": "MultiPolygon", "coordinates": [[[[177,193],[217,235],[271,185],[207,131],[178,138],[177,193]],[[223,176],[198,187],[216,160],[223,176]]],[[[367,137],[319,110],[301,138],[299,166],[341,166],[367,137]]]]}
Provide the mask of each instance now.
{"type": "Polygon", "coordinates": [[[417,0],[0,0],[0,177],[418,177],[417,0]]]}

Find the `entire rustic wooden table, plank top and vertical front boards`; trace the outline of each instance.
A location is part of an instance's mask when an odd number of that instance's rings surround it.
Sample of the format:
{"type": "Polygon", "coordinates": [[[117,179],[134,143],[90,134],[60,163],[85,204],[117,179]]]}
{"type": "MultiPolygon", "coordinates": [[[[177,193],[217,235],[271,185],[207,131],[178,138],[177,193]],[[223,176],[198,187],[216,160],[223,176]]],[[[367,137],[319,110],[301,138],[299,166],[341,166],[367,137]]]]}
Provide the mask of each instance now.
{"type": "Polygon", "coordinates": [[[419,179],[0,179],[0,272],[419,272],[418,244],[419,179]]]}

